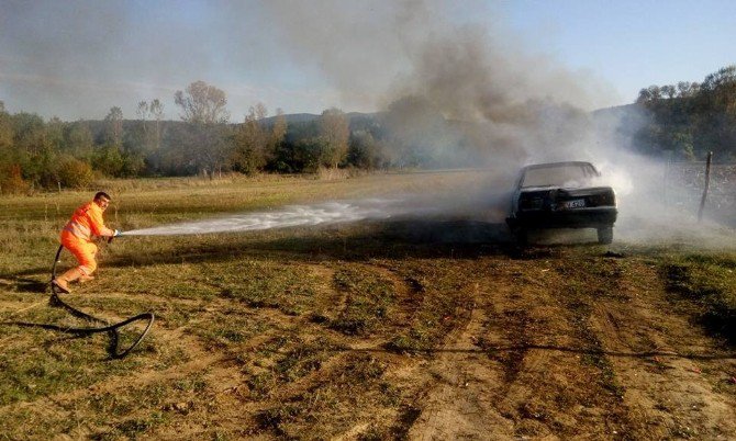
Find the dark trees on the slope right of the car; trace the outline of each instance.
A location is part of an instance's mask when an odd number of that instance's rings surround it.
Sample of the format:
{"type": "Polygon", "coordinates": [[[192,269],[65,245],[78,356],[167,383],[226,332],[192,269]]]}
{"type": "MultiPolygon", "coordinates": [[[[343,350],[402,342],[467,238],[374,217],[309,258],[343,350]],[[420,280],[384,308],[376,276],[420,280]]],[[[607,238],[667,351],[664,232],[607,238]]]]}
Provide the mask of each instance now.
{"type": "Polygon", "coordinates": [[[736,161],[736,66],[700,83],[642,89],[636,104],[645,111],[634,133],[640,151],[684,161],[703,160],[713,151],[717,161],[736,161]]]}

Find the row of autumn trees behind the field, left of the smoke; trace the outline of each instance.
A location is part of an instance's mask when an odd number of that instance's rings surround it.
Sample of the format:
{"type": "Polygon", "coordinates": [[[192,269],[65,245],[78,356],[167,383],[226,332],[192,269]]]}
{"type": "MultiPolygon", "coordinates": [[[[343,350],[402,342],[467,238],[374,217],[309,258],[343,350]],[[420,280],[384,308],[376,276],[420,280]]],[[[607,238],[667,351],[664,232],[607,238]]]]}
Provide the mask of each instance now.
{"type": "Polygon", "coordinates": [[[85,188],[99,177],[389,167],[370,124],[350,127],[338,109],[287,124],[281,111],[268,117],[258,103],[242,123],[231,124],[225,93],[214,86],[197,81],[174,98],[181,121],[163,120],[158,99],[141,101],[134,120],[113,106],[102,120],[77,122],[10,114],[0,101],[0,192],[85,188]]]}

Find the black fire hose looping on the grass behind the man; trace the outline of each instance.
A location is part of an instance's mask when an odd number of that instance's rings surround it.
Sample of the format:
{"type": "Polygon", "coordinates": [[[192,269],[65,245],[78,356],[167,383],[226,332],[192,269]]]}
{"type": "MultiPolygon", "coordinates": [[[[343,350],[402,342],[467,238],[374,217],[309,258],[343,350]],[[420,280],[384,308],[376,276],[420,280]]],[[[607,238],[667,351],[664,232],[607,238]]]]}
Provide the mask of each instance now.
{"type": "MultiPolygon", "coordinates": [[[[111,239],[112,240],[112,239],[111,239]]],[[[56,251],[56,257],[54,258],[54,265],[52,267],[52,281],[56,279],[56,264],[59,262],[59,258],[62,256],[62,250],[64,249],[64,246],[59,246],[59,249],[56,251]]],[[[73,333],[76,336],[90,336],[93,333],[100,333],[100,332],[108,332],[110,335],[110,346],[108,348],[108,352],[110,353],[110,357],[115,360],[123,359],[125,355],[127,355],[133,349],[135,349],[143,339],[148,335],[148,331],[150,330],[150,327],[154,324],[154,314],[153,313],[143,313],[138,314],[136,316],[133,316],[131,318],[127,318],[125,320],[119,321],[116,324],[109,324],[105,320],[102,320],[100,318],[97,318],[94,316],[91,316],[87,313],[83,313],[74,306],[65,303],[62,301],[62,298],[58,295],[57,287],[54,283],[51,283],[52,286],[52,295],[48,298],[48,305],[52,307],[58,307],[66,309],[69,314],[77,318],[81,318],[88,321],[101,324],[103,326],[100,327],[88,327],[88,328],[71,328],[71,327],[66,327],[66,326],[59,326],[59,325],[51,325],[51,324],[37,324],[37,323],[26,323],[26,321],[7,321],[3,323],[2,325],[14,325],[14,326],[21,326],[21,327],[27,327],[27,328],[43,328],[43,329],[48,329],[48,330],[55,330],[59,332],[66,332],[66,333],[73,333]],[[135,321],[142,321],[142,320],[148,320],[145,329],[138,335],[138,337],[133,341],[133,343],[127,347],[124,350],[120,349],[120,333],[119,329],[122,328],[123,326],[130,325],[135,321]]]]}

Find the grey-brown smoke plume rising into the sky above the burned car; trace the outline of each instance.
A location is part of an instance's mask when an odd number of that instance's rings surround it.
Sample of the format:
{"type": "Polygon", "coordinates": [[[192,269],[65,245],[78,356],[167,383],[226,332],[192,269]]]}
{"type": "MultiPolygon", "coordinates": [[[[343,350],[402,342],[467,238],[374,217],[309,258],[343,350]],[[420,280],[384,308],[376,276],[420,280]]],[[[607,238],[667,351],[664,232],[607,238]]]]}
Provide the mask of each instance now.
{"type": "Polygon", "coordinates": [[[594,81],[528,55],[497,21],[454,23],[448,3],[373,5],[269,8],[283,43],[303,63],[316,60],[344,102],[388,109],[400,144],[422,144],[445,166],[480,159],[508,170],[590,155],[581,147],[590,143],[582,109],[595,102],[594,81]]]}

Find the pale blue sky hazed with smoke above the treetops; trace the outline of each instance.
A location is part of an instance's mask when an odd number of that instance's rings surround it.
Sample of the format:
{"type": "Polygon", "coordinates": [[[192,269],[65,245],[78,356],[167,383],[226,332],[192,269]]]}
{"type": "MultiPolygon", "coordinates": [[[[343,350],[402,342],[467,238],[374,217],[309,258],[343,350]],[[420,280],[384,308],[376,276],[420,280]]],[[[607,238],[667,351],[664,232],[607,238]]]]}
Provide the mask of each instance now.
{"type": "Polygon", "coordinates": [[[177,120],[175,92],[202,80],[239,122],[257,102],[381,111],[481,68],[489,97],[594,110],[736,64],[734,19],[733,0],[0,0],[0,101],[74,121],[159,99],[177,120]]]}

